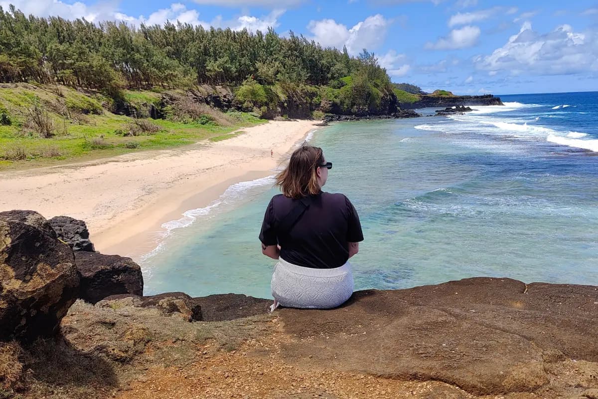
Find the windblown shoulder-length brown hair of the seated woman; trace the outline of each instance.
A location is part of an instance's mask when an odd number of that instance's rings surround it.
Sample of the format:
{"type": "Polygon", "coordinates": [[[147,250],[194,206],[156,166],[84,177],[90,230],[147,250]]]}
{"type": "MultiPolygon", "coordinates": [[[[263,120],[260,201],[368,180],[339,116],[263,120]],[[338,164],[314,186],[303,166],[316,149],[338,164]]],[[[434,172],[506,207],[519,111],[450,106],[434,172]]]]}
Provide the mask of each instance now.
{"type": "Polygon", "coordinates": [[[318,194],[318,165],[324,162],[322,148],[303,145],[291,155],[289,165],[276,175],[276,185],[285,197],[299,199],[318,194]]]}

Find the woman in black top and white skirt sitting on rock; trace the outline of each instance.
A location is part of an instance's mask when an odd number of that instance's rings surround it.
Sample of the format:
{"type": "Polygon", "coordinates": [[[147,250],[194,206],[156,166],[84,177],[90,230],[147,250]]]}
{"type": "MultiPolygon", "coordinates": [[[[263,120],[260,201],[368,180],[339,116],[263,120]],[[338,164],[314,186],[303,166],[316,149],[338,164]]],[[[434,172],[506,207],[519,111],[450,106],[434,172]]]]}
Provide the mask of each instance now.
{"type": "Polygon", "coordinates": [[[329,169],[321,148],[304,145],[276,176],[282,194],[270,200],[260,233],[262,253],[278,260],[271,310],[278,304],[327,309],[353,293],[347,260],[364,236],[349,199],[322,192],[329,169]]]}

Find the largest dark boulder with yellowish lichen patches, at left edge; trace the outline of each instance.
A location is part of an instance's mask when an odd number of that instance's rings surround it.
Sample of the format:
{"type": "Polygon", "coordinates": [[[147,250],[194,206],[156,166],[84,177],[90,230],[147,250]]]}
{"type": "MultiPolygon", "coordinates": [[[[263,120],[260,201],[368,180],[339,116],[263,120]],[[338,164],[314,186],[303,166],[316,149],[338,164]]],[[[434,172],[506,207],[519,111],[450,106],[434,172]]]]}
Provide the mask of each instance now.
{"type": "Polygon", "coordinates": [[[0,340],[51,336],[77,300],[73,252],[33,211],[0,212],[0,340]]]}

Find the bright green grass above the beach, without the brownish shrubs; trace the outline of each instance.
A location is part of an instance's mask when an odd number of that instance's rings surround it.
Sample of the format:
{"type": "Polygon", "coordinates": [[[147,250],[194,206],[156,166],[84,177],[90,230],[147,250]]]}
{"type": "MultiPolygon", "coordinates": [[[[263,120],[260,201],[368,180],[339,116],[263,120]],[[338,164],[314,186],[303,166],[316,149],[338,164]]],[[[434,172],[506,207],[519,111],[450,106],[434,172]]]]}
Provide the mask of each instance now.
{"type": "MultiPolygon", "coordinates": [[[[28,129],[22,127],[28,118],[28,109],[34,103],[68,103],[69,99],[85,106],[99,103],[93,93],[87,96],[69,87],[60,87],[61,97],[52,90],[52,87],[26,84],[0,85],[0,108],[5,108],[13,121],[10,126],[0,125],[0,170],[60,165],[136,151],[179,147],[210,138],[220,141],[236,136],[237,134],[230,133],[239,127],[265,122],[246,112],[229,112],[228,115],[234,120],[233,126],[158,119],[151,120],[151,123],[161,127],[155,134],[120,136],[115,131],[126,131],[126,125],[134,121],[133,118],[115,115],[102,108],[99,115],[81,117],[77,114],[69,119],[47,108],[54,122],[55,136],[44,139],[35,133],[26,132],[28,129]],[[15,154],[19,158],[25,154],[25,160],[16,160],[15,154]]],[[[126,95],[136,100],[160,98],[158,93],[153,92],[127,92],[126,95]]]]}

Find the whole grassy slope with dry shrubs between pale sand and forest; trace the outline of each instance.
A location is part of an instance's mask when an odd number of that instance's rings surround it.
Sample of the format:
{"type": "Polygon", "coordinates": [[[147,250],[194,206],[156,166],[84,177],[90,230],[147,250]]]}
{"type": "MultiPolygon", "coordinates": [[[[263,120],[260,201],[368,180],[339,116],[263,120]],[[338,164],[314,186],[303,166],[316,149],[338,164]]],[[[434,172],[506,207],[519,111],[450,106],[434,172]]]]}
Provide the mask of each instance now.
{"type": "Polygon", "coordinates": [[[220,112],[186,100],[182,92],[149,118],[164,93],[124,91],[124,104],[139,118],[114,114],[114,100],[94,91],[56,85],[0,84],[0,169],[35,167],[70,160],[225,139],[242,126],[263,123],[248,112],[220,112]]]}

